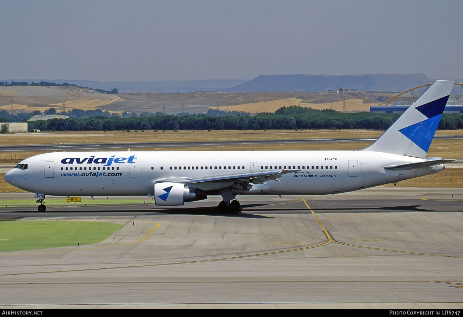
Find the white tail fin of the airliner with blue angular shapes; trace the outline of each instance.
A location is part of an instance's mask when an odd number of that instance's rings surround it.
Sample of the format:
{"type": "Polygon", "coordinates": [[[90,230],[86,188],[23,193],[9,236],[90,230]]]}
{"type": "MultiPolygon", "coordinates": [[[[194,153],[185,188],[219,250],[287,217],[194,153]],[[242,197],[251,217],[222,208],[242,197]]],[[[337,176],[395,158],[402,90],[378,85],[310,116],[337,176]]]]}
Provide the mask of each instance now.
{"type": "Polygon", "coordinates": [[[371,146],[362,151],[424,159],[438,127],[454,80],[437,80],[371,146]]]}

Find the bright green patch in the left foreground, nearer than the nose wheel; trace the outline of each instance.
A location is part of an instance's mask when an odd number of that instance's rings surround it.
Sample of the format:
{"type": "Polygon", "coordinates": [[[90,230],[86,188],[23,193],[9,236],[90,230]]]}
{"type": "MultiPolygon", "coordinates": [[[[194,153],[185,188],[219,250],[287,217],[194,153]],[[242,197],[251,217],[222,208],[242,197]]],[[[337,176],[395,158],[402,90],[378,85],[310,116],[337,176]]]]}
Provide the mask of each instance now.
{"type": "Polygon", "coordinates": [[[121,227],[111,222],[0,221],[0,252],[97,243],[121,227]]]}

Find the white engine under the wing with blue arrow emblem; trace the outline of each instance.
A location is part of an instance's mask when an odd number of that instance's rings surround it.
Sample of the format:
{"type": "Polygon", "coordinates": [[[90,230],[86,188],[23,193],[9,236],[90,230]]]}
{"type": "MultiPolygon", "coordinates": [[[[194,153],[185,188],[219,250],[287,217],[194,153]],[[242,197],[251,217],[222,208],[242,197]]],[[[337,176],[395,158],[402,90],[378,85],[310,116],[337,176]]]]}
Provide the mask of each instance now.
{"type": "Polygon", "coordinates": [[[186,202],[194,202],[206,198],[206,191],[197,188],[189,188],[186,187],[185,184],[154,184],[154,203],[156,206],[179,206],[186,202]]]}

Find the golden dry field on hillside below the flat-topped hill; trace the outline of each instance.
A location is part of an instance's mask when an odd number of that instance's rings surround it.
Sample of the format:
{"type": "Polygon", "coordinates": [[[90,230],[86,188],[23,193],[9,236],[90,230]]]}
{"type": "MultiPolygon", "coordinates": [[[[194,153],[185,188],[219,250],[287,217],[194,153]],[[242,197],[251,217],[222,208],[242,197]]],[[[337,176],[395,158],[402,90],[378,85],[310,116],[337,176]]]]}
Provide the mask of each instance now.
{"type": "MultiPolygon", "coordinates": [[[[350,98],[346,99],[346,112],[358,112],[358,111],[369,111],[370,106],[374,106],[373,103],[363,103],[363,99],[350,98]]],[[[259,113],[259,112],[275,112],[279,108],[289,107],[289,106],[300,106],[300,107],[309,107],[313,109],[333,109],[337,111],[344,111],[344,101],[335,101],[335,102],[325,102],[325,103],[308,103],[302,102],[298,98],[286,98],[279,100],[271,101],[260,101],[245,103],[235,106],[223,106],[219,107],[220,110],[226,111],[245,111],[250,113],[259,113]]],[[[211,107],[211,109],[215,109],[211,107]]]]}

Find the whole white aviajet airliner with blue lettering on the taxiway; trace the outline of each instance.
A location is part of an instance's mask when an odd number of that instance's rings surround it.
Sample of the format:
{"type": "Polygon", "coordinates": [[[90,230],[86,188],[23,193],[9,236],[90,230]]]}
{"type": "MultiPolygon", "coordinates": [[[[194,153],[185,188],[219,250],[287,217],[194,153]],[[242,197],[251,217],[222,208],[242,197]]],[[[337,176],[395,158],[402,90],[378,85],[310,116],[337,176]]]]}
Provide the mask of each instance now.
{"type": "Polygon", "coordinates": [[[442,171],[453,159],[425,158],[453,80],[438,80],[371,146],[359,151],[52,152],[20,162],[5,180],[45,195],[154,196],[158,206],[220,195],[323,195],[442,171]]]}

